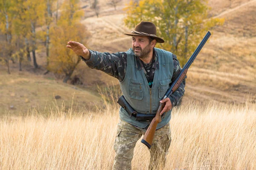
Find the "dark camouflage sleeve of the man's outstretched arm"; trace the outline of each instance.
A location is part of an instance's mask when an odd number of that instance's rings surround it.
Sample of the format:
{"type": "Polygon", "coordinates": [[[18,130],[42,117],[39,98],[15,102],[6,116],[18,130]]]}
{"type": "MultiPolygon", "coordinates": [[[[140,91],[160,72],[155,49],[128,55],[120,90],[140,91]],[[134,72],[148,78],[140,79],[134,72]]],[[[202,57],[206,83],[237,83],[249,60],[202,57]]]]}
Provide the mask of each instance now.
{"type": "Polygon", "coordinates": [[[117,78],[120,82],[125,78],[127,67],[127,55],[124,52],[108,53],[90,51],[90,59],[86,60],[82,56],[81,59],[90,68],[103,71],[110,76],[117,78]]]}

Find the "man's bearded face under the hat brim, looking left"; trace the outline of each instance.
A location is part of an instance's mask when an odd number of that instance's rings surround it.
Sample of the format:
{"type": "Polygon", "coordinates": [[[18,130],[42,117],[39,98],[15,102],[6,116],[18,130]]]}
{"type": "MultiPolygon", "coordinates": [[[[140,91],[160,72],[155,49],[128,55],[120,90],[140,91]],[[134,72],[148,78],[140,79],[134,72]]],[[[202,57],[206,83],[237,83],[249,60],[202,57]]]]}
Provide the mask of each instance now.
{"type": "Polygon", "coordinates": [[[148,37],[137,35],[132,37],[132,49],[137,57],[147,58],[153,48],[148,37]]]}

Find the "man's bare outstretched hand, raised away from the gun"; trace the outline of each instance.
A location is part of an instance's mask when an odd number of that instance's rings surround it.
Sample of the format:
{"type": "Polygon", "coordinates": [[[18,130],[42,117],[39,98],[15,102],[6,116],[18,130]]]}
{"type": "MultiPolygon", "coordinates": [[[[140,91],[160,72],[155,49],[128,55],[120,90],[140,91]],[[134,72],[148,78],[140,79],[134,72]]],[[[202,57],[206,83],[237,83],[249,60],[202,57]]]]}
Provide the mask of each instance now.
{"type": "Polygon", "coordinates": [[[72,49],[77,55],[83,56],[84,59],[90,59],[90,51],[81,43],[75,41],[67,42],[67,48],[72,49]]]}

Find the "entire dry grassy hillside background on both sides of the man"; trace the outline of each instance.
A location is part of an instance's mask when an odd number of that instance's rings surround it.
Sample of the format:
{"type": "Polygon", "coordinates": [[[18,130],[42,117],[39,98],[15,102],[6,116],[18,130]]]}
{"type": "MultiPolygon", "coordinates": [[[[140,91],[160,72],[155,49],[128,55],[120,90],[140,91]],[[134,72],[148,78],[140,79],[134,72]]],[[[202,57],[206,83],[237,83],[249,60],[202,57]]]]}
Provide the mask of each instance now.
{"type": "MultiPolygon", "coordinates": [[[[89,49],[116,52],[131,47],[131,37],[123,34],[131,31],[123,23],[123,8],[128,0],[119,3],[116,10],[108,6],[107,1],[99,0],[99,18],[89,1],[81,2],[85,11],[81,23],[91,34],[87,41],[89,49]]],[[[189,68],[183,102],[256,102],[256,0],[232,0],[231,6],[230,0],[209,0],[208,4],[209,16],[225,18],[225,23],[209,30],[212,36],[189,68]]],[[[34,72],[32,66],[24,65],[25,71],[20,73],[17,64],[12,63],[11,75],[6,74],[5,68],[0,69],[1,112],[43,109],[45,105],[54,105],[54,95],[61,96],[56,100],[58,105],[64,101],[68,108],[74,92],[75,105],[78,102],[79,108],[91,107],[100,99],[96,85],[119,84],[117,79],[88,68],[84,62],[79,63],[72,76],[79,77],[83,85],[63,84],[61,76],[43,75],[45,48],[39,48],[36,53],[41,65],[39,71],[34,72]]]]}

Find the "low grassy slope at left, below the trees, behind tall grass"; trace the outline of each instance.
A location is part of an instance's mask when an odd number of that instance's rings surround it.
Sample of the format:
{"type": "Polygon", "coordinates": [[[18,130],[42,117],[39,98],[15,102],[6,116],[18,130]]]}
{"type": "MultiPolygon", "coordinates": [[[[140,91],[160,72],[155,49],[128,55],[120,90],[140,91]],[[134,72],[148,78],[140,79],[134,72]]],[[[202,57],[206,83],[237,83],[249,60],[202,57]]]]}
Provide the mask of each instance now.
{"type": "Polygon", "coordinates": [[[99,95],[91,90],[25,71],[9,75],[1,70],[0,80],[0,115],[58,107],[67,111],[72,103],[73,109],[90,109],[101,101],[99,95]],[[57,95],[61,98],[55,99],[57,95]]]}

